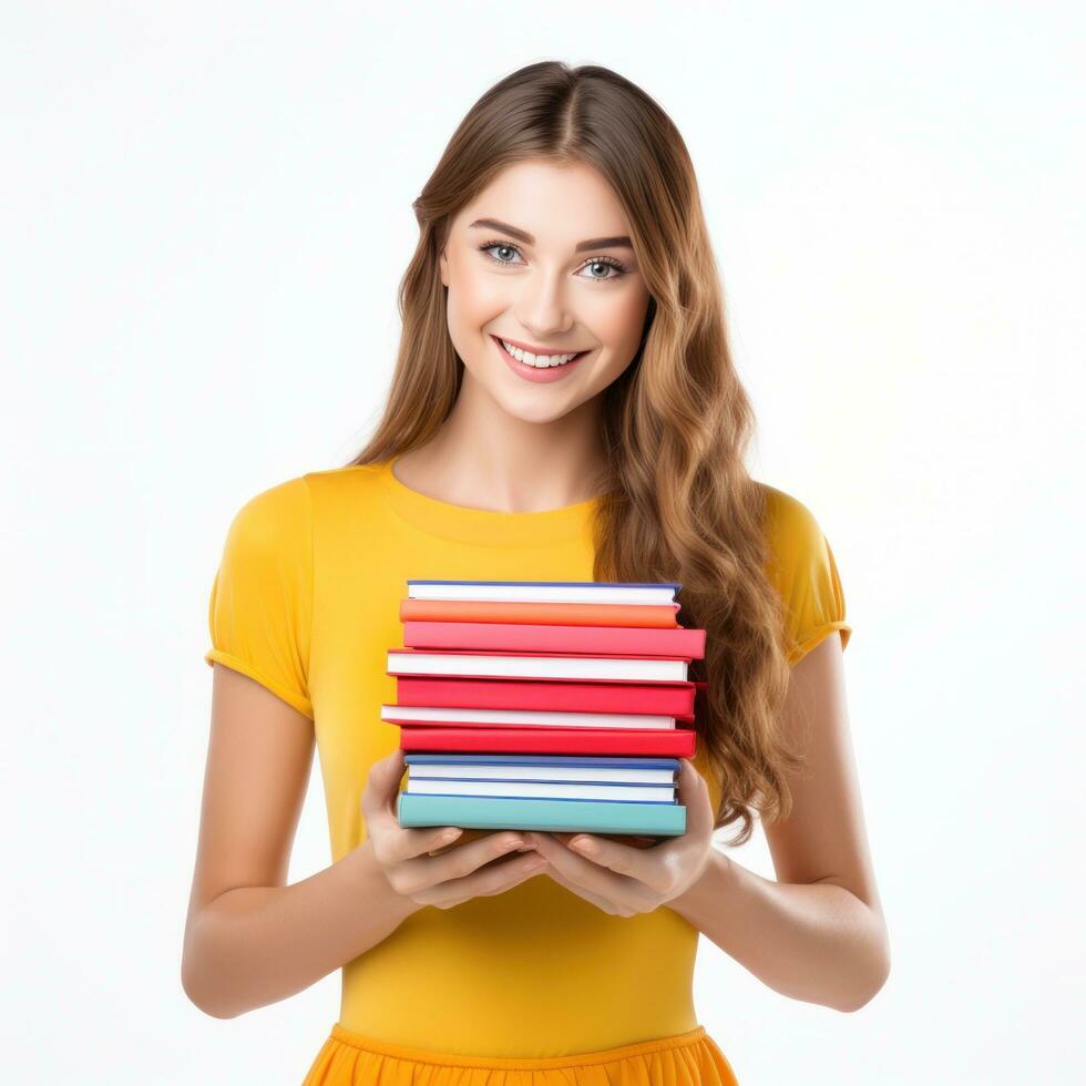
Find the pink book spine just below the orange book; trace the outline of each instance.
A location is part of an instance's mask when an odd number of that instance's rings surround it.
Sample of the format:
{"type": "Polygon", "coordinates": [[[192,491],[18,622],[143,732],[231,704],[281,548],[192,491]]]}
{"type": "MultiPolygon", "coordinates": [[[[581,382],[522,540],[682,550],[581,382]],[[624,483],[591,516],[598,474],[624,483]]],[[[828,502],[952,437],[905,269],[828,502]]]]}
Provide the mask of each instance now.
{"type": "Polygon", "coordinates": [[[675,626],[525,625],[504,622],[406,622],[408,648],[463,648],[473,652],[583,653],[590,656],[682,656],[703,659],[705,631],[675,626]]]}

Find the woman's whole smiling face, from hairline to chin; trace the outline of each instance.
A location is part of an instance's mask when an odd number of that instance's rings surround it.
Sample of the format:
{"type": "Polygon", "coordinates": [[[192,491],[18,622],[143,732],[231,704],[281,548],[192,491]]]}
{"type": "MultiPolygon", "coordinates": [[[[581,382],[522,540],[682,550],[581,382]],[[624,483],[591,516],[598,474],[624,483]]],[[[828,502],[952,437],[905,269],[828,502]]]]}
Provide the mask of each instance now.
{"type": "Polygon", "coordinates": [[[592,166],[531,161],[502,171],[453,218],[441,254],[465,379],[532,422],[611,385],[637,351],[649,300],[627,235],[592,166]]]}

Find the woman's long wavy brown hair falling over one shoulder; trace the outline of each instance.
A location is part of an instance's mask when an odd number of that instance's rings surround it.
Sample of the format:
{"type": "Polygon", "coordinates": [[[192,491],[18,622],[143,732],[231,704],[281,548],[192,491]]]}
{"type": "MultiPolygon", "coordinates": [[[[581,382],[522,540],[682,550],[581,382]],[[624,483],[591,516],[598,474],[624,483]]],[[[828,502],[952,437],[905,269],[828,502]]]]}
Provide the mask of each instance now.
{"type": "Polygon", "coordinates": [[[637,354],[600,395],[606,450],[593,529],[596,581],[675,581],[683,625],[706,631],[695,728],[721,785],[715,829],[786,818],[801,764],[778,723],[789,667],[767,576],[766,495],[744,457],[754,412],[728,346],[720,279],[686,145],[644,91],[597,65],[529,64],[471,107],[421,195],[400,283],[402,334],[382,417],[351,464],[426,444],[455,403],[438,258],[458,211],[524,160],[588,164],[607,180],[649,291],[637,354]]]}

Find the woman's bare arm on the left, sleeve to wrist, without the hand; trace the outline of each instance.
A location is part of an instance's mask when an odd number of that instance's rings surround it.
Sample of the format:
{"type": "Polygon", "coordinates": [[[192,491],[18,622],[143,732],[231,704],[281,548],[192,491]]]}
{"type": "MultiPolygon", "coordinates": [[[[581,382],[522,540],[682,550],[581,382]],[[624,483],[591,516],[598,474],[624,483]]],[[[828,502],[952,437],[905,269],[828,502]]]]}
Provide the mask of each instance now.
{"type": "Polygon", "coordinates": [[[314,745],[308,717],[215,664],[182,984],[216,1018],[300,992],[420,908],[391,888],[368,840],[285,884],[314,745]]]}

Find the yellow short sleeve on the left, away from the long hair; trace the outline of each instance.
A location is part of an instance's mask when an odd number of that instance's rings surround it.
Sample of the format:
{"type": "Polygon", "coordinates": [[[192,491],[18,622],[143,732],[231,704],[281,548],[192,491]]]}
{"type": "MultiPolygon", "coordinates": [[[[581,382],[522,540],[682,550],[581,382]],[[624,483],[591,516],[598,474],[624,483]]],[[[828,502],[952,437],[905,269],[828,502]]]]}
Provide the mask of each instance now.
{"type": "Polygon", "coordinates": [[[310,719],[311,518],[305,477],[237,512],[212,584],[212,648],[204,655],[208,666],[247,675],[310,719]]]}

